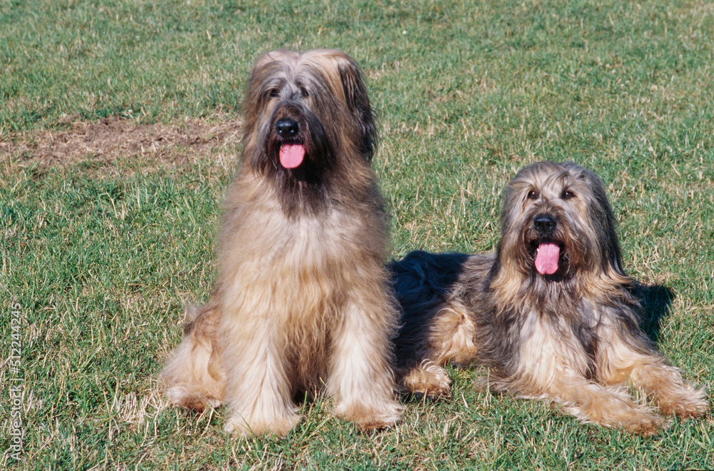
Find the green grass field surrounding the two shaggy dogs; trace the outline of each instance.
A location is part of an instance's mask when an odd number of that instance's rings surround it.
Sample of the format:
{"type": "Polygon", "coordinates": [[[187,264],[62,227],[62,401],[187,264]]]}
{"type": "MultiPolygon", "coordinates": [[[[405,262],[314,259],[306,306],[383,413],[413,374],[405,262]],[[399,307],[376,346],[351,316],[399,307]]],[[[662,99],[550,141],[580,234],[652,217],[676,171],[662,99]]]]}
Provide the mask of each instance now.
{"type": "Polygon", "coordinates": [[[501,191],[528,163],[598,173],[628,273],[673,293],[658,347],[714,385],[713,4],[3,0],[0,466],[714,467],[710,413],[643,439],[478,393],[456,369],[452,401],[405,398],[375,435],[322,399],[285,440],[230,440],[225,410],[168,407],[156,377],[183,303],[211,289],[243,83],[279,47],[363,66],[396,257],[492,250],[501,191]]]}

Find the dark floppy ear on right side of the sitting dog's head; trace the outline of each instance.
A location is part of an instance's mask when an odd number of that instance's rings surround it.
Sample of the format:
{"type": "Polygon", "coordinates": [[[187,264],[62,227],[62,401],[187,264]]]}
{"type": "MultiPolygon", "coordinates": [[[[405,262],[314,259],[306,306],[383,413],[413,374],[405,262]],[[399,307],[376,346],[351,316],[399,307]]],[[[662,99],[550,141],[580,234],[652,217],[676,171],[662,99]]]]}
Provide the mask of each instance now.
{"type": "Polygon", "coordinates": [[[371,161],[377,143],[377,126],[372,115],[367,88],[364,86],[362,72],[357,64],[346,55],[343,55],[342,59],[339,61],[338,73],[345,100],[361,128],[360,152],[367,161],[371,161]]]}

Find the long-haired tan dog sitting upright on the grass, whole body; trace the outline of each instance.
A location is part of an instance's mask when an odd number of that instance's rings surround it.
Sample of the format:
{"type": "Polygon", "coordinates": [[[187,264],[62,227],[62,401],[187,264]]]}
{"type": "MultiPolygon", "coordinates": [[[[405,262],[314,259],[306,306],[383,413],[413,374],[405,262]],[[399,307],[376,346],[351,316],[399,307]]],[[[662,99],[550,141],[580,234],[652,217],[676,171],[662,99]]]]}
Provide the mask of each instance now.
{"type": "Polygon", "coordinates": [[[336,415],[391,425],[402,410],[391,369],[398,311],[361,72],[340,51],[264,54],[244,118],[218,280],[164,370],[169,398],[196,410],[225,403],[226,430],[241,435],[286,435],[296,395],[320,389],[336,415]]]}

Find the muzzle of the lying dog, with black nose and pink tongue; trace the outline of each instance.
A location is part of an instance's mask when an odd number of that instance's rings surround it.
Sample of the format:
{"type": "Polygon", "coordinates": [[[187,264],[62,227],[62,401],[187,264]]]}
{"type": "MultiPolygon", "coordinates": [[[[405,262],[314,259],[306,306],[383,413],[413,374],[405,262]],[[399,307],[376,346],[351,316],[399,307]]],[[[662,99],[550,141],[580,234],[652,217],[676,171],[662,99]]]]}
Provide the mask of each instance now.
{"type": "Polygon", "coordinates": [[[560,223],[550,213],[538,213],[526,231],[526,249],[535,270],[545,277],[563,275],[568,253],[560,236],[560,223]]]}

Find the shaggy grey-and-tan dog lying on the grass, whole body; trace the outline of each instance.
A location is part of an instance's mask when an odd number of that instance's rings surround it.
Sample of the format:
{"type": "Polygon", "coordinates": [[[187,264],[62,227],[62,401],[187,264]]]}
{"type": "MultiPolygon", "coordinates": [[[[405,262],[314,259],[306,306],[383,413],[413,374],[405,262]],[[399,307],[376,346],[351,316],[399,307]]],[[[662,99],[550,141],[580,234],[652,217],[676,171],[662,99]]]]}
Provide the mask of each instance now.
{"type": "Polygon", "coordinates": [[[403,307],[401,386],[449,394],[442,365],[476,363],[496,391],[557,402],[585,422],[650,435],[660,412],[695,417],[703,389],[682,380],[640,329],[615,218],[598,176],[574,163],[523,168],[508,186],[496,255],[413,252],[391,269],[403,307]]]}

